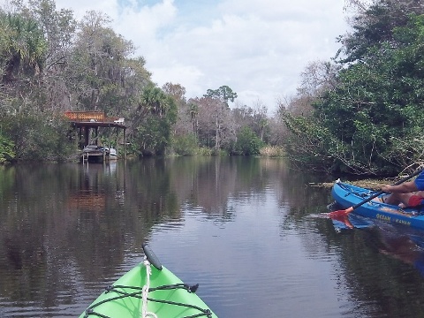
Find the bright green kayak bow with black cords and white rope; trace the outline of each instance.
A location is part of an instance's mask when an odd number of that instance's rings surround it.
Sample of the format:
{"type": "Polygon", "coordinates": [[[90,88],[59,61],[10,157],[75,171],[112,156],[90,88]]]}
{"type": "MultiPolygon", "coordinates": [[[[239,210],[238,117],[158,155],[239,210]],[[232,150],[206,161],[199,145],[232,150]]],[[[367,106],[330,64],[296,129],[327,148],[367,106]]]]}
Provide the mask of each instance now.
{"type": "Polygon", "coordinates": [[[106,288],[79,318],[216,317],[195,294],[198,285],[184,284],[160,264],[148,246],[143,245],[143,249],[147,261],[140,263],[106,288]],[[151,271],[150,276],[148,270],[151,271]],[[148,286],[145,287],[144,294],[143,286],[148,286]]]}

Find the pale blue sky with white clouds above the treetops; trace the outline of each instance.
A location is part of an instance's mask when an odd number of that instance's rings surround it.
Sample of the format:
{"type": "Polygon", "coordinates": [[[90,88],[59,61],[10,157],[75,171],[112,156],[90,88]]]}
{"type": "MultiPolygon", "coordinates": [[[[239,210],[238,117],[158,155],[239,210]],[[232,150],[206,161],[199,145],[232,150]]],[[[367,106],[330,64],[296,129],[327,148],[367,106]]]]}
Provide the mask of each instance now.
{"type": "MultiPolygon", "coordinates": [[[[226,85],[237,102],[276,110],[296,94],[308,63],[329,61],[348,30],[345,0],[57,0],[57,9],[102,11],[146,59],[153,81],[186,98],[226,85]]],[[[271,115],[271,114],[269,114],[271,115]]]]}

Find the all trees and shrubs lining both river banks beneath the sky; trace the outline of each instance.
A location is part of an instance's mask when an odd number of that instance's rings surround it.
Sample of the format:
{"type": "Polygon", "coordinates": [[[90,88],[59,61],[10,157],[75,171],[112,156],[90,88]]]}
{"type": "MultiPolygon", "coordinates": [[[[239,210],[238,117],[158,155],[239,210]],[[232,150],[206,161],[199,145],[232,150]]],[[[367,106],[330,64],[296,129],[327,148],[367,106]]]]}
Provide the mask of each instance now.
{"type": "MultiPolygon", "coordinates": [[[[340,49],[307,64],[272,116],[227,85],[189,99],[179,83],[158,87],[101,11],[76,19],[53,0],[0,7],[0,164],[69,160],[87,142],[64,113],[83,110],[125,120],[116,142],[128,156],[262,155],[310,172],[397,176],[424,154],[424,6],[345,5],[340,49]]],[[[101,145],[109,137],[99,127],[101,145]]]]}

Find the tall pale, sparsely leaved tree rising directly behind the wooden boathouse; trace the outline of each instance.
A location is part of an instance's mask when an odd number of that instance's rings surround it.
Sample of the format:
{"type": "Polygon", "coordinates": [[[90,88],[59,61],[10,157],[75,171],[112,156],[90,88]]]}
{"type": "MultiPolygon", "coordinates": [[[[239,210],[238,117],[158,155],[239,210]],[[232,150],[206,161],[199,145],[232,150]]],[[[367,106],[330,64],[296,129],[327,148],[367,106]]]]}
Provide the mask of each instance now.
{"type": "Polygon", "coordinates": [[[125,84],[133,76],[136,61],[127,59],[133,53],[133,42],[116,34],[109,24],[107,15],[87,12],[80,24],[70,71],[77,102],[83,108],[115,114],[128,102],[125,84]]]}

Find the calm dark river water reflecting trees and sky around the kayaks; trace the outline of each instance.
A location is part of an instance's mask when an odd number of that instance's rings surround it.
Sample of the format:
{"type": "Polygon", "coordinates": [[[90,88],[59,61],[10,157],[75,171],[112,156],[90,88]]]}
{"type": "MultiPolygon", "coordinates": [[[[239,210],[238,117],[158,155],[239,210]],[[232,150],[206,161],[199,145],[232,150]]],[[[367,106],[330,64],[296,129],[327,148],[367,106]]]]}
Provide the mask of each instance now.
{"type": "Polygon", "coordinates": [[[423,317],[420,233],[337,231],[333,180],[224,157],[0,169],[0,316],[78,316],[148,244],[219,317],[423,317]]]}

